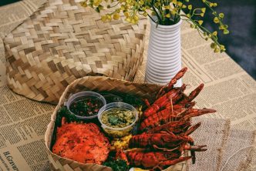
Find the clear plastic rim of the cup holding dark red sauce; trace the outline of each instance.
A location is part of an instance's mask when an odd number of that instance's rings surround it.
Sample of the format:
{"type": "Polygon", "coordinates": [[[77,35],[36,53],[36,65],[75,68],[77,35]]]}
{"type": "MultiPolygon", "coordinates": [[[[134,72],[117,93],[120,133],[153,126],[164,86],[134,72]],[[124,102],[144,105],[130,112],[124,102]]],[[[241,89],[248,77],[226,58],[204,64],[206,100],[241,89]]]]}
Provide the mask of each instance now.
{"type": "MultiPolygon", "coordinates": [[[[73,102],[78,102],[79,100],[83,100],[83,99],[86,99],[89,97],[99,99],[99,101],[103,103],[102,105],[106,106],[106,99],[103,96],[101,96],[97,92],[89,92],[89,91],[78,92],[76,94],[73,94],[71,97],[69,97],[69,99],[65,105],[67,106],[67,109],[69,109],[69,107],[72,105],[73,102]]],[[[76,116],[79,119],[94,119],[97,117],[97,114],[98,114],[96,112],[96,114],[93,116],[79,116],[79,115],[76,115],[76,113],[73,113],[70,109],[69,109],[69,112],[72,113],[74,116],[76,116]]]]}

